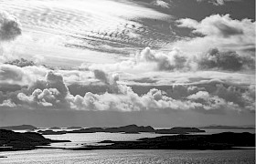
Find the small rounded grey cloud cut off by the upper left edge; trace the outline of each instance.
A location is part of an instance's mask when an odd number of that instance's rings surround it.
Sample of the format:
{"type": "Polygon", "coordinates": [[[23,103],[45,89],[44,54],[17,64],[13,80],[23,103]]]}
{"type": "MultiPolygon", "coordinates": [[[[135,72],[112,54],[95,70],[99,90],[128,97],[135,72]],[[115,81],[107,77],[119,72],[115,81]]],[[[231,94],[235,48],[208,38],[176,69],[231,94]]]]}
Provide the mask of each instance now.
{"type": "Polygon", "coordinates": [[[16,17],[5,12],[0,12],[0,40],[14,40],[21,35],[21,25],[16,17]]]}

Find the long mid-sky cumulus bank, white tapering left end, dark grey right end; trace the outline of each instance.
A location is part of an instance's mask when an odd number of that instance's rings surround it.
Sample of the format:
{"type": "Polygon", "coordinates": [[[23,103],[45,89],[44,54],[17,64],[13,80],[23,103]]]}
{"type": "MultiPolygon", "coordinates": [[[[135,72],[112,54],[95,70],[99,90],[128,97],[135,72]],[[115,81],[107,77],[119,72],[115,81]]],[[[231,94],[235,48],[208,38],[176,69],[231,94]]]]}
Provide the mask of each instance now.
{"type": "MultiPolygon", "coordinates": [[[[253,56],[240,56],[235,51],[220,51],[218,48],[210,48],[198,54],[188,54],[176,47],[169,53],[155,52],[146,47],[135,56],[119,63],[81,65],[80,68],[137,74],[150,71],[254,70],[254,65],[253,56]]],[[[96,74],[99,74],[97,75],[99,77],[102,76],[101,72],[96,74]]]]}

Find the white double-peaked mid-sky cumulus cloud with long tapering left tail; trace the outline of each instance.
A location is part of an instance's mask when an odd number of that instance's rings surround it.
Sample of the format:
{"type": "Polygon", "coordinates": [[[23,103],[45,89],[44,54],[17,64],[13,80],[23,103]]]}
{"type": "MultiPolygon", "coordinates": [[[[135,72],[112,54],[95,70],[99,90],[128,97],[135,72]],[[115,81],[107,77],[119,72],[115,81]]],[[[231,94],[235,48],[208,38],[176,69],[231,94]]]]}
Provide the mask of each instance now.
{"type": "Polygon", "coordinates": [[[140,53],[131,56],[129,59],[115,64],[95,64],[91,66],[82,65],[80,68],[90,70],[102,69],[107,71],[123,72],[148,72],[148,71],[165,71],[165,70],[186,70],[194,67],[190,57],[174,48],[168,54],[156,53],[150,47],[144,48],[140,53]]]}

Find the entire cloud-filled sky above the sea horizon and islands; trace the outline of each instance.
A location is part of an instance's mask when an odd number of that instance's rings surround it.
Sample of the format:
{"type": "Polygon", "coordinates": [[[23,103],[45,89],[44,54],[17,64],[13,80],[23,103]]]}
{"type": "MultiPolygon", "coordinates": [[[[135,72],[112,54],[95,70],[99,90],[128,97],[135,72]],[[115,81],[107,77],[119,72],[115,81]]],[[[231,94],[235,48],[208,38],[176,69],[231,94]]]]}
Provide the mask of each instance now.
{"type": "Polygon", "coordinates": [[[0,0],[0,126],[255,125],[254,0],[0,0]]]}

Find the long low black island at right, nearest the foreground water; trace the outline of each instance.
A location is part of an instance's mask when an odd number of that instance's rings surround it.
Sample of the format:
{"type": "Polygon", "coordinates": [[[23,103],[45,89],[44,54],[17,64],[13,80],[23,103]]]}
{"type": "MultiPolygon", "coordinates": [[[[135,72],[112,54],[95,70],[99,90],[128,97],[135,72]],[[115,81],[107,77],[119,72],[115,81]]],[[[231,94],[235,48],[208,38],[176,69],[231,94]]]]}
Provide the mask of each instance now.
{"type": "Polygon", "coordinates": [[[223,132],[212,135],[176,135],[140,138],[135,141],[103,140],[100,145],[85,145],[74,150],[91,149],[241,149],[255,147],[255,134],[223,132]],[[105,144],[105,145],[101,145],[105,144]]]}

